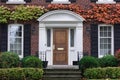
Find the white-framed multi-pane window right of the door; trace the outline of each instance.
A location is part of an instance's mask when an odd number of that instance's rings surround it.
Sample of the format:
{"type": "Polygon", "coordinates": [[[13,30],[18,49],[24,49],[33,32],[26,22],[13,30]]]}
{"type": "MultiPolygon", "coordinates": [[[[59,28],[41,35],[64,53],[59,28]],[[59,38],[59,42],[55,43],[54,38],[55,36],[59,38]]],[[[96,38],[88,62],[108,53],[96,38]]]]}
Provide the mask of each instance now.
{"type": "Polygon", "coordinates": [[[113,55],[113,26],[99,25],[98,28],[99,57],[113,55]]]}

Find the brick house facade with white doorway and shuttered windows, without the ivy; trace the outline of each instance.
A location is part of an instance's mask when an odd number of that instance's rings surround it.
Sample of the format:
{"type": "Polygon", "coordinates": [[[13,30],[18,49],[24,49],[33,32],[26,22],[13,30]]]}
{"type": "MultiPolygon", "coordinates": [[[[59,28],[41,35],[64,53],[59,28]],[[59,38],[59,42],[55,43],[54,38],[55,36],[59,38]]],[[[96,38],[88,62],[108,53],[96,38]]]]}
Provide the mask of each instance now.
{"type": "MultiPolygon", "coordinates": [[[[21,4],[41,5],[47,7],[49,4],[60,3],[67,5],[76,4],[82,6],[85,10],[89,10],[91,3],[119,4],[119,1],[120,0],[1,0],[0,5],[4,5],[12,9],[14,6],[21,4]]],[[[46,53],[49,65],[73,65],[73,61],[77,61],[77,53],[81,54],[80,57],[84,55],[102,57],[105,53],[114,55],[114,52],[120,48],[120,31],[117,26],[120,25],[93,24],[86,22],[82,16],[68,10],[48,11],[40,16],[36,21],[18,21],[17,23],[9,21],[7,24],[0,24],[0,51],[21,52],[23,53],[21,58],[28,55],[38,55],[39,58],[41,58],[40,54],[46,53]],[[61,14],[65,19],[61,18],[61,14]],[[13,26],[13,29],[10,28],[11,26],[13,26]],[[14,30],[17,30],[15,26],[21,28],[18,32],[20,32],[22,37],[14,36],[14,33],[17,33],[14,32],[14,30]],[[43,32],[42,35],[41,32],[43,32]],[[11,35],[9,33],[11,33],[11,35]],[[65,37],[56,39],[57,36],[62,37],[60,34],[63,34],[65,37]],[[20,43],[19,41],[18,44],[15,43],[13,37],[15,37],[15,40],[20,40],[20,43]],[[50,41],[47,40],[48,38],[50,38],[50,41]],[[16,46],[20,46],[19,44],[21,44],[22,51],[20,51],[21,49],[16,49],[15,51],[15,46],[11,50],[11,45],[13,45],[12,43],[16,46]],[[48,44],[50,44],[50,46],[47,46],[48,44]],[[74,46],[71,47],[72,44],[74,46]],[[56,47],[56,45],[58,47],[56,47]],[[55,50],[53,50],[53,47],[55,47],[55,50]]]]}

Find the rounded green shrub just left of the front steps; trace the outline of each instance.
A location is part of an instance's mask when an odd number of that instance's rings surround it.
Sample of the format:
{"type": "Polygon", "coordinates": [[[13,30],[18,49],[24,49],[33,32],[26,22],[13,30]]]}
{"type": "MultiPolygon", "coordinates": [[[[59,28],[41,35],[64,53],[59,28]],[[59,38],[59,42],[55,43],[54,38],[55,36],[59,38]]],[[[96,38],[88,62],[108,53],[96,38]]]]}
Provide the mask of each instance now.
{"type": "Polygon", "coordinates": [[[22,67],[42,68],[42,61],[35,56],[27,56],[22,59],[22,67]]]}

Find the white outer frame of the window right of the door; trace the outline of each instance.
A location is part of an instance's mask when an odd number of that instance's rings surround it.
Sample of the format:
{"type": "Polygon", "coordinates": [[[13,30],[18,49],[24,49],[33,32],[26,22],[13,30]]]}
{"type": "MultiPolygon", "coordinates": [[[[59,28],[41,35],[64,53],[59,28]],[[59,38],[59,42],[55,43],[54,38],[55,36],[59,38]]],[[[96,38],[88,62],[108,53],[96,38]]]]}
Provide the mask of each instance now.
{"type": "Polygon", "coordinates": [[[107,25],[107,24],[100,24],[98,25],[98,57],[101,58],[104,55],[100,55],[100,27],[101,26],[111,26],[111,55],[114,55],[114,26],[113,25],[107,25]]]}

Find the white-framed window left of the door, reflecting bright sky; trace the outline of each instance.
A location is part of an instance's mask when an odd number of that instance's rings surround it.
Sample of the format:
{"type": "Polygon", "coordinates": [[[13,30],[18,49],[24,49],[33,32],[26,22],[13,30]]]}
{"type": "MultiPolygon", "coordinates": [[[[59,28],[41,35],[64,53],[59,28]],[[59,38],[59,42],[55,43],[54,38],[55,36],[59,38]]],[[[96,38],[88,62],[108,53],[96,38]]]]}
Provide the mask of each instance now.
{"type": "Polygon", "coordinates": [[[23,57],[23,25],[11,24],[8,27],[8,51],[23,57]]]}

